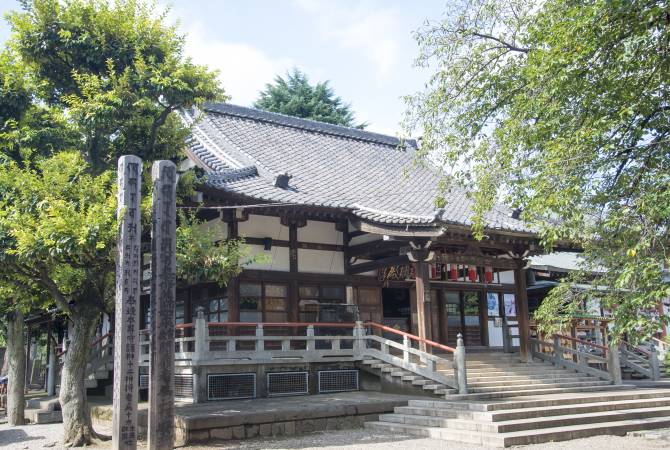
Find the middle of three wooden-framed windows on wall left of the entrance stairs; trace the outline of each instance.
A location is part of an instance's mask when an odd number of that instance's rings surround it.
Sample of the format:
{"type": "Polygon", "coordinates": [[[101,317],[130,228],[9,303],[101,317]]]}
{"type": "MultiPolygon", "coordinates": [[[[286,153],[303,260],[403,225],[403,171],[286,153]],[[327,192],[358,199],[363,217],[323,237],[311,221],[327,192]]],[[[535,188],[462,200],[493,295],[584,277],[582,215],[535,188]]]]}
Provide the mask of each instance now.
{"type": "Polygon", "coordinates": [[[240,283],[240,322],[286,322],[287,304],[286,285],[240,283]]]}

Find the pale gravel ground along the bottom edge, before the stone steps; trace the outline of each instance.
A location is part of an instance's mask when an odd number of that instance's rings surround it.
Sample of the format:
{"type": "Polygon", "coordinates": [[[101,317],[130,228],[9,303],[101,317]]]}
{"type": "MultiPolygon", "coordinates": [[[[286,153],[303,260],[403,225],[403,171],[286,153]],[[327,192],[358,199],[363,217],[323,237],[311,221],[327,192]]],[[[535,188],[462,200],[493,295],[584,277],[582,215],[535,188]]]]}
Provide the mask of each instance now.
{"type": "MultiPolygon", "coordinates": [[[[109,430],[99,430],[109,433],[109,430]]],[[[63,449],[59,444],[62,425],[27,425],[23,427],[9,427],[0,425],[0,448],[12,450],[37,450],[52,448],[63,449]]],[[[647,433],[643,433],[647,434],[647,433]]],[[[552,442],[549,444],[531,445],[528,449],[548,450],[638,450],[638,449],[667,449],[670,447],[670,430],[648,432],[648,436],[597,436],[587,439],[577,439],[566,442],[552,442]]],[[[111,443],[102,442],[89,447],[96,450],[107,450],[111,443]]],[[[140,445],[140,448],[146,448],[140,445]]],[[[388,435],[374,433],[367,430],[343,430],[322,433],[312,433],[304,436],[275,439],[252,439],[244,442],[210,444],[206,446],[187,447],[188,450],[204,449],[369,449],[369,450],[444,450],[455,448],[459,450],[483,450],[485,447],[467,446],[460,443],[448,443],[435,439],[420,439],[402,435],[388,435]]]]}

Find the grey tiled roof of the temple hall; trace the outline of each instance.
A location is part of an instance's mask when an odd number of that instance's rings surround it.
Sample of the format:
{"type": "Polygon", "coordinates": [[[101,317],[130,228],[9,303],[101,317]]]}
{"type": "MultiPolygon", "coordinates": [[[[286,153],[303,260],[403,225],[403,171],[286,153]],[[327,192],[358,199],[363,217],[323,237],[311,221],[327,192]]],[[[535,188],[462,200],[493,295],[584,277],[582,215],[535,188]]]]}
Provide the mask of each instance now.
{"type": "MultiPolygon", "coordinates": [[[[472,200],[452,187],[435,207],[440,175],[417,164],[417,144],[392,136],[229,104],[183,111],[192,125],[188,154],[209,188],[260,202],[337,208],[373,224],[471,225],[472,200]]],[[[495,206],[488,228],[531,233],[512,211],[495,206]]]]}

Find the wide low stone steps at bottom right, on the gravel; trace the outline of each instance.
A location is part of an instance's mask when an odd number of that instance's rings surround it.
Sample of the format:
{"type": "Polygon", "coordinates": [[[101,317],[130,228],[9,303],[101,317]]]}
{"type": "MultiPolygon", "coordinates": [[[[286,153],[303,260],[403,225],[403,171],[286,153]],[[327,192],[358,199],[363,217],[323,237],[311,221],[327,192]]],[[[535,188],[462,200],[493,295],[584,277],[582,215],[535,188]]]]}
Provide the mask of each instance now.
{"type": "Polygon", "coordinates": [[[670,390],[563,392],[488,401],[411,400],[365,426],[491,447],[623,435],[670,426],[670,390]]]}

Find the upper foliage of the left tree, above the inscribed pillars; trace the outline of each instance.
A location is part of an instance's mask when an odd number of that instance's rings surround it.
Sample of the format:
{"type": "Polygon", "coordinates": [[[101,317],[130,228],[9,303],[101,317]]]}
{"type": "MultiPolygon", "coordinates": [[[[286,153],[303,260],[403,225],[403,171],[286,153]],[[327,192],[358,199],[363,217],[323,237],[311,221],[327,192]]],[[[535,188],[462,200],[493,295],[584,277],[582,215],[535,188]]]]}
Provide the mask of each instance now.
{"type": "Polygon", "coordinates": [[[215,72],[183,55],[183,38],[141,1],[26,0],[10,46],[34,94],[67,110],[78,150],[97,170],[133,153],[179,155],[188,131],[173,114],[224,98],[215,72]]]}

